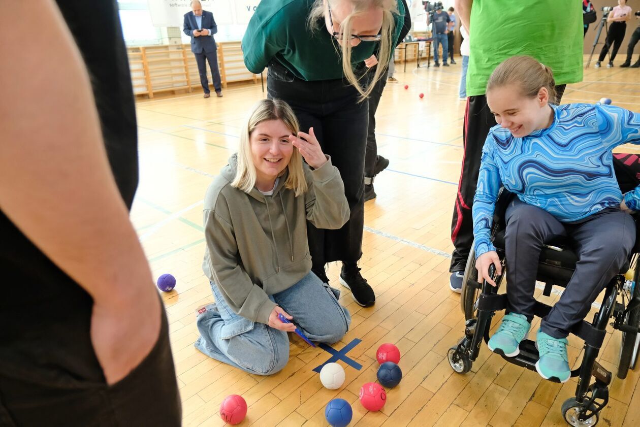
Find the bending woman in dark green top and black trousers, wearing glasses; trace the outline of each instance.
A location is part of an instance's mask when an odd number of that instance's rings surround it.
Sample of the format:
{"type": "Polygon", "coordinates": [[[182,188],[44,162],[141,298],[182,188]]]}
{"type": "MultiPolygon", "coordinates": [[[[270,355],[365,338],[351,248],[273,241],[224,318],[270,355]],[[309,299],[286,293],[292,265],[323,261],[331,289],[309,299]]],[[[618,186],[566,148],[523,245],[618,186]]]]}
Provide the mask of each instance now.
{"type": "Polygon", "coordinates": [[[307,224],[312,271],[328,282],[324,264],[342,261],[340,282],[365,307],[376,300],[357,265],[364,231],[366,99],[385,76],[407,13],[402,0],[262,1],[242,41],[251,72],[269,67],[268,97],[287,102],[303,131],[314,128],[340,171],[351,215],[339,230],[307,224]]]}

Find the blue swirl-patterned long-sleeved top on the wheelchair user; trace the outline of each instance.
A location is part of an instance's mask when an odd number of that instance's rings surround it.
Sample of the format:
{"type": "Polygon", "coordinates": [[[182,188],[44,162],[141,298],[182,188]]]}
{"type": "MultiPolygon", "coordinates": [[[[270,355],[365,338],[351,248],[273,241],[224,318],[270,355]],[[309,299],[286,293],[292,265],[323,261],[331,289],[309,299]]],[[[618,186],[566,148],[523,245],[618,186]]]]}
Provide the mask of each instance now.
{"type": "MultiPolygon", "coordinates": [[[[552,108],[555,118],[547,129],[515,138],[496,125],[484,141],[473,205],[476,256],[495,250],[490,229],[501,186],[560,222],[581,220],[623,200],[612,150],[640,144],[640,114],[601,104],[552,108]]],[[[640,211],[640,186],[624,200],[640,211]]]]}

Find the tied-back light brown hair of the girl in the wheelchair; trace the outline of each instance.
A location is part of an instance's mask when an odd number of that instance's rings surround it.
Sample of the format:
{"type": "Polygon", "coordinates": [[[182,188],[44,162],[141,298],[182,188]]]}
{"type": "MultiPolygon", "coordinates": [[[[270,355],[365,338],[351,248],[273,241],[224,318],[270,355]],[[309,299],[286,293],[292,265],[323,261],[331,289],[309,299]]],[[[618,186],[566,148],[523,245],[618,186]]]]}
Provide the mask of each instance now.
{"type": "Polygon", "coordinates": [[[502,61],[489,77],[486,92],[511,84],[517,85],[527,98],[536,97],[540,88],[547,88],[550,104],[558,103],[553,71],[531,56],[511,56],[502,61]]]}

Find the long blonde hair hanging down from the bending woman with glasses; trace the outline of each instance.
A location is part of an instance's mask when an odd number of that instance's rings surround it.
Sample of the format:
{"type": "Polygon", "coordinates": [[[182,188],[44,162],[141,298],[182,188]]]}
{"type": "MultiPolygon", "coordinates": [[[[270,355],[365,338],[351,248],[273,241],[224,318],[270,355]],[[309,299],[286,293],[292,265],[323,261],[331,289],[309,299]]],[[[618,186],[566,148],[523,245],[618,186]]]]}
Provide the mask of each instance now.
{"type": "MultiPolygon", "coordinates": [[[[309,17],[307,20],[307,25],[314,33],[319,28],[324,28],[324,1],[328,2],[330,5],[337,4],[340,1],[349,1],[349,3],[353,4],[353,12],[349,13],[344,20],[340,23],[340,30],[342,31],[342,40],[340,40],[340,47],[342,48],[342,72],[344,77],[346,77],[347,81],[351,83],[353,87],[360,93],[360,102],[367,99],[369,93],[373,90],[373,87],[376,85],[376,82],[380,79],[381,76],[387,70],[387,65],[389,63],[389,58],[391,58],[391,54],[394,51],[394,27],[395,20],[393,13],[398,13],[397,10],[397,2],[396,0],[316,0],[314,5],[311,8],[311,12],[309,13],[309,17]],[[363,76],[359,78],[356,77],[355,72],[353,72],[353,65],[351,64],[351,50],[353,46],[351,46],[351,27],[353,26],[353,18],[357,15],[361,15],[364,12],[367,12],[372,7],[381,8],[382,15],[382,28],[380,29],[380,33],[382,35],[382,40],[380,40],[380,47],[378,49],[378,56],[376,59],[378,60],[378,65],[376,66],[376,70],[373,74],[373,78],[369,86],[365,87],[360,84],[360,80],[364,79],[364,77],[368,74],[365,73],[363,76]],[[323,24],[320,25],[319,23],[323,24]]],[[[405,13],[409,13],[409,11],[405,11],[405,13]]],[[[366,81],[366,79],[365,79],[366,81]]]]}

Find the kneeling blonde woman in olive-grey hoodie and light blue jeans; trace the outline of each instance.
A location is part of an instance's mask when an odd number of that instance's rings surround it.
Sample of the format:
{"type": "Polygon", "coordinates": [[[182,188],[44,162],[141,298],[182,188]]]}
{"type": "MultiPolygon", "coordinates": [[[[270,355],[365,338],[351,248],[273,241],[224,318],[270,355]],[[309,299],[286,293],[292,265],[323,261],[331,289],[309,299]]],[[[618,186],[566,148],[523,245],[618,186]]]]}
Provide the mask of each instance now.
{"type": "Polygon", "coordinates": [[[237,154],[205,196],[202,268],[216,303],[198,314],[196,348],[249,373],[271,375],[287,364],[287,332],[295,328],[278,314],[312,341],[342,339],[351,316],[338,303],[340,291],[311,272],[307,221],[339,229],[348,219],[340,173],[313,128],[298,132],[284,101],[258,102],[237,154]]]}

